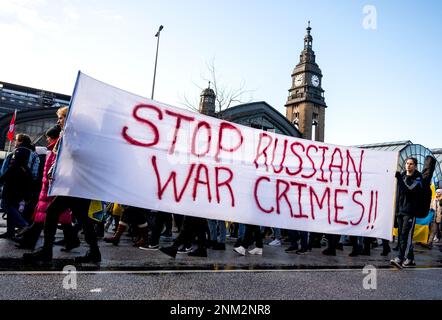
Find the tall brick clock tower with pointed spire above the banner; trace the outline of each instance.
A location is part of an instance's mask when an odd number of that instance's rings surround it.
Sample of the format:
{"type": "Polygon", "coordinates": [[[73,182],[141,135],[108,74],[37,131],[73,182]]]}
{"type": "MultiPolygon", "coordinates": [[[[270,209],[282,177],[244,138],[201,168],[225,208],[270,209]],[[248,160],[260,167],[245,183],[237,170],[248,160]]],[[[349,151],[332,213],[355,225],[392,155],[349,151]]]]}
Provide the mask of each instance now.
{"type": "Polygon", "coordinates": [[[286,117],[302,133],[302,138],[324,141],[325,104],[322,72],[315,61],[312,28],[308,22],[304,50],[292,72],[292,87],[285,107],[286,117]]]}

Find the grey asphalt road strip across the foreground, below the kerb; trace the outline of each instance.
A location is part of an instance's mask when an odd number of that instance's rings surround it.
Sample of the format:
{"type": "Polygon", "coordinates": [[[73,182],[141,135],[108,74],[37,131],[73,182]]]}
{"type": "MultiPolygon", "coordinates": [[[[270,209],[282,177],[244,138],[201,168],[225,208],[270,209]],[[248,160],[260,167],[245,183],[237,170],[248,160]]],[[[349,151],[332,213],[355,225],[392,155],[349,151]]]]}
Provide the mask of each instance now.
{"type": "Polygon", "coordinates": [[[362,270],[3,272],[0,300],[442,299],[441,278],[440,268],[383,269],[375,275],[362,270]],[[364,289],[364,278],[372,289],[364,289]]]}

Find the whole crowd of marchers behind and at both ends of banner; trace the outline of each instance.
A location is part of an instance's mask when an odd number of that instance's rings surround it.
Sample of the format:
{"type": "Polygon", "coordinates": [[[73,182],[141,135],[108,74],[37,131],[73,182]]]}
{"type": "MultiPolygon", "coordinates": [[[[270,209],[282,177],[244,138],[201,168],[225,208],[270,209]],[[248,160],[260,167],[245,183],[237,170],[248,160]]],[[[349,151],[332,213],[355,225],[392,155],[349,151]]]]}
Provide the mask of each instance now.
{"type": "MultiPolygon", "coordinates": [[[[378,245],[378,239],[333,234],[308,233],[305,231],[281,230],[255,225],[244,225],[226,221],[210,220],[192,216],[182,216],[167,212],[158,212],[142,208],[109,203],[102,221],[89,217],[91,200],[48,195],[57,154],[63,135],[64,122],[68,108],[57,110],[57,125],[46,131],[47,148],[43,154],[36,152],[31,139],[26,134],[17,134],[15,149],[3,161],[0,183],[3,185],[1,207],[7,219],[7,230],[0,238],[17,242],[19,249],[32,250],[25,253],[23,259],[28,262],[50,262],[53,246],[63,245],[63,251],[69,252],[80,246],[79,233],[83,230],[84,239],[89,245],[85,256],[77,257],[76,262],[101,261],[99,238],[103,242],[118,246],[120,239],[128,232],[134,239],[134,246],[141,250],[161,250],[164,254],[176,257],[187,254],[194,257],[207,257],[208,249],[226,250],[226,238],[235,238],[234,251],[238,255],[262,255],[264,240],[267,235],[273,237],[270,246],[282,246],[289,242],[287,253],[307,254],[314,248],[321,248],[327,243],[322,254],[335,256],[336,250],[350,245],[349,256],[370,255],[371,249],[378,245]],[[114,226],[114,234],[104,237],[103,230],[114,226]],[[63,230],[64,239],[55,243],[57,228],[63,230]],[[172,231],[178,233],[168,246],[160,247],[162,237],[172,238],[172,231]],[[35,250],[43,232],[43,246],[35,250]],[[253,246],[251,250],[249,248],[253,246]]],[[[420,173],[417,160],[407,158],[405,171],[396,173],[398,181],[398,199],[395,224],[398,237],[393,251],[397,256],[391,263],[397,267],[414,267],[413,232],[417,212],[422,211],[423,189],[429,175],[420,173]]],[[[432,173],[431,173],[432,175],[432,173]]],[[[430,177],[431,178],[431,177],[430,177]]],[[[441,237],[442,190],[436,190],[436,197],[431,202],[433,219],[430,225],[428,249],[441,237]]],[[[163,242],[164,243],[164,242],[163,242]]],[[[390,244],[382,240],[382,256],[391,253],[390,244]]]]}

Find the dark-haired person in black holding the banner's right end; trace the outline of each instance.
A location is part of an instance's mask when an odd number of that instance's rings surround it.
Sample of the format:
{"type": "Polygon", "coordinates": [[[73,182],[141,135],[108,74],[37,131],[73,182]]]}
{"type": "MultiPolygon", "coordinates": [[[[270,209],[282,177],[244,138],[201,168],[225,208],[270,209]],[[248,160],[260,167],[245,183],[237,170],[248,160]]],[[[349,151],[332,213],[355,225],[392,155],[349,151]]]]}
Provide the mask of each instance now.
{"type": "Polygon", "coordinates": [[[416,215],[419,213],[423,196],[422,174],[416,167],[417,159],[410,157],[405,160],[405,172],[396,172],[399,189],[397,207],[399,255],[390,262],[399,268],[416,266],[413,253],[413,233],[416,215]]]}

